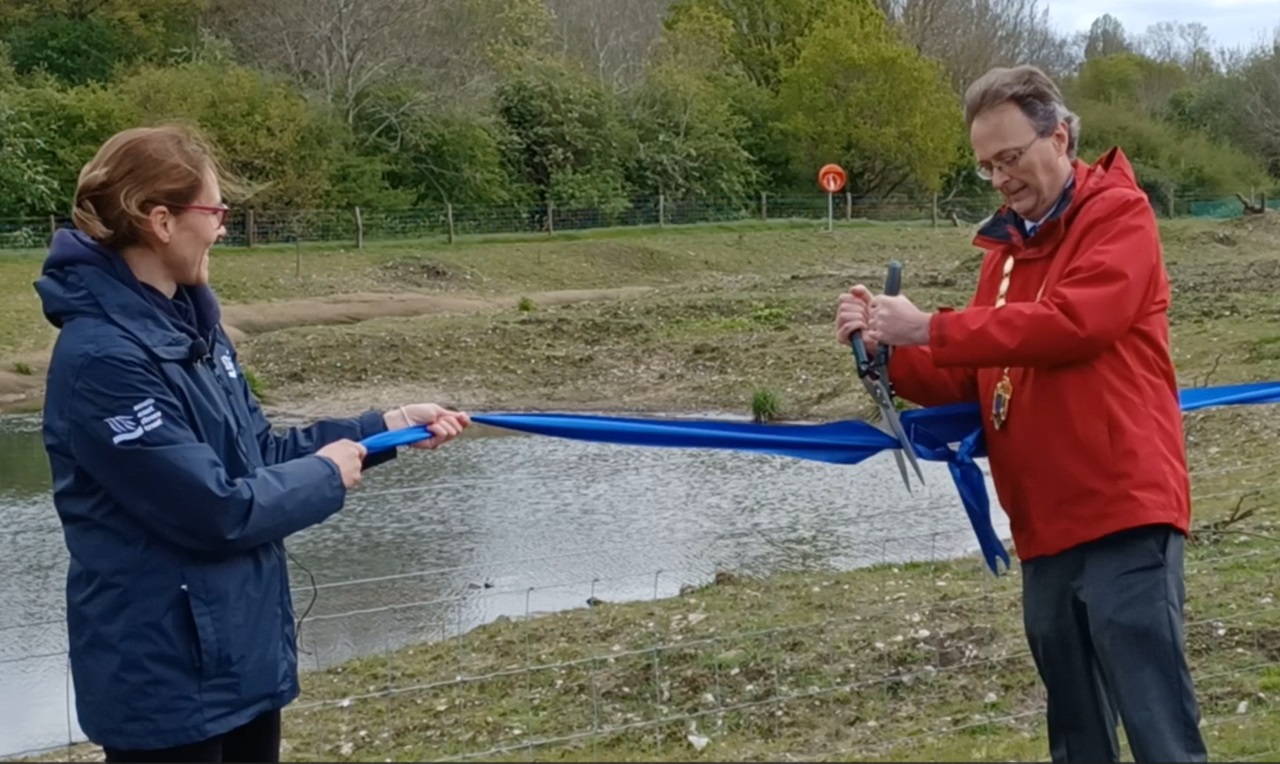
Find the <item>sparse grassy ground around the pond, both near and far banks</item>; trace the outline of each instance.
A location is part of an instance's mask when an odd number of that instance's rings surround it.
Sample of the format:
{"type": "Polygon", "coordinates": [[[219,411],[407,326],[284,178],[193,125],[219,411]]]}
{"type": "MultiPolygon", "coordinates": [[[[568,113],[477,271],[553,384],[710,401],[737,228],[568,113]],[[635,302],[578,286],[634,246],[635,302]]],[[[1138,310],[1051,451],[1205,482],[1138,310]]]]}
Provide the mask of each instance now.
{"type": "MultiPolygon", "coordinates": [[[[1172,221],[1164,237],[1181,384],[1280,379],[1280,223],[1172,221]]],[[[472,299],[413,317],[251,333],[242,356],[280,410],[421,394],[472,411],[746,415],[753,393],[768,389],[783,416],[832,418],[869,411],[847,348],[832,340],[836,294],[877,284],[890,259],[905,264],[905,290],[923,306],[963,303],[977,271],[965,232],[867,225],[221,251],[214,273],[228,303],[257,303],[264,315],[279,299],[314,299],[323,314],[325,298],[352,292],[472,299]],[[557,305],[538,297],[617,287],[652,289],[557,305]]],[[[32,264],[0,259],[0,358],[38,349],[35,303],[13,288],[29,282],[32,264]],[[9,326],[8,316],[28,324],[9,326]]],[[[1187,424],[1199,530],[1188,641],[1211,755],[1274,760],[1280,416],[1249,407],[1187,424]]],[[[726,571],[689,584],[668,600],[502,619],[308,673],[287,714],[287,758],[1047,755],[1016,568],[993,578],[963,559],[767,580],[726,571]]]]}

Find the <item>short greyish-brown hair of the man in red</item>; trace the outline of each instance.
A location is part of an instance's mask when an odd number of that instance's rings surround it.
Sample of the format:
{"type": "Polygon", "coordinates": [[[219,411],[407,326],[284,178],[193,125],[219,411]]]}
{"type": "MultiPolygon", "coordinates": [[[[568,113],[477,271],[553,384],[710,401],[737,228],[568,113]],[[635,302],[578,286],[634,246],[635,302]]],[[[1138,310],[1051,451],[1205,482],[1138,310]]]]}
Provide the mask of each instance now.
{"type": "Polygon", "coordinates": [[[983,111],[1010,101],[1027,115],[1036,134],[1042,138],[1052,133],[1059,123],[1066,123],[1066,155],[1075,159],[1080,118],[1062,102],[1057,84],[1036,67],[996,67],[975,79],[964,93],[965,124],[973,125],[983,111]]]}

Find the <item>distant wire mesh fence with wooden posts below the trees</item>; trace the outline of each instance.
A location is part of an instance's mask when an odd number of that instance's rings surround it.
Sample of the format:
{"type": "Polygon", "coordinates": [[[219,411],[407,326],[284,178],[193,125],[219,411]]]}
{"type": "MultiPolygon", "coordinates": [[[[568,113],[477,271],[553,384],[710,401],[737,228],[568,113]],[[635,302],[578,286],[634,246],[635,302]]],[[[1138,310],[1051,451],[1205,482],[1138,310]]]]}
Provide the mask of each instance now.
{"type": "MultiPolygon", "coordinates": [[[[1231,218],[1244,214],[1238,198],[1201,200],[1167,197],[1152,200],[1169,218],[1231,218]]],[[[1280,200],[1265,202],[1280,209],[1280,200]]],[[[224,242],[230,246],[264,246],[301,242],[365,242],[403,239],[456,241],[465,237],[553,234],[602,228],[694,225],[710,223],[782,223],[796,220],[884,223],[928,221],[942,225],[974,224],[998,205],[986,195],[914,197],[855,197],[851,193],[774,195],[763,192],[744,198],[669,200],[637,197],[608,206],[539,205],[467,206],[435,203],[402,210],[326,209],[256,210],[234,209],[227,219],[224,242]]],[[[0,219],[0,250],[33,250],[47,246],[52,232],[68,225],[65,215],[0,219]]]]}

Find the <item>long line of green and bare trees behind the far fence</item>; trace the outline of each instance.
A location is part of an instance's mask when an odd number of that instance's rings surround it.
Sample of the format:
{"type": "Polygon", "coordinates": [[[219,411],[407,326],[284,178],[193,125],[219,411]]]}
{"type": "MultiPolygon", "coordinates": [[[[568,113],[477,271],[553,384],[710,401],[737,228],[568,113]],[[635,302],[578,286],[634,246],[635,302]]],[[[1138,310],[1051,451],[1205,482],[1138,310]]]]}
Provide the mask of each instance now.
{"type": "Polygon", "coordinates": [[[964,87],[1059,78],[1082,155],[1158,202],[1280,184],[1280,42],[1198,24],[1062,37],[1034,0],[8,0],[0,218],[63,214],[113,132],[204,128],[259,209],[622,209],[964,195],[964,87]]]}

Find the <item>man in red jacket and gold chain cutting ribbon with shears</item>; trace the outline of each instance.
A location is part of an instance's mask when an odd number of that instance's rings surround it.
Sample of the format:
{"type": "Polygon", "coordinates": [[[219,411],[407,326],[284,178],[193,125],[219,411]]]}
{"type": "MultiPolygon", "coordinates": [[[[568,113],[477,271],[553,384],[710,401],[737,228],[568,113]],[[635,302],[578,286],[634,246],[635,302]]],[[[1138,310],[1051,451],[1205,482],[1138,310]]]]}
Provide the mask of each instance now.
{"type": "Polygon", "coordinates": [[[837,338],[896,348],[899,395],[980,404],[1023,566],[1027,640],[1055,761],[1206,760],[1183,637],[1190,486],[1169,352],[1169,279],[1147,196],[1119,148],[1075,156],[1079,120],[1033,67],[964,97],[978,173],[1004,206],[974,243],[972,302],[840,297],[837,338]]]}

